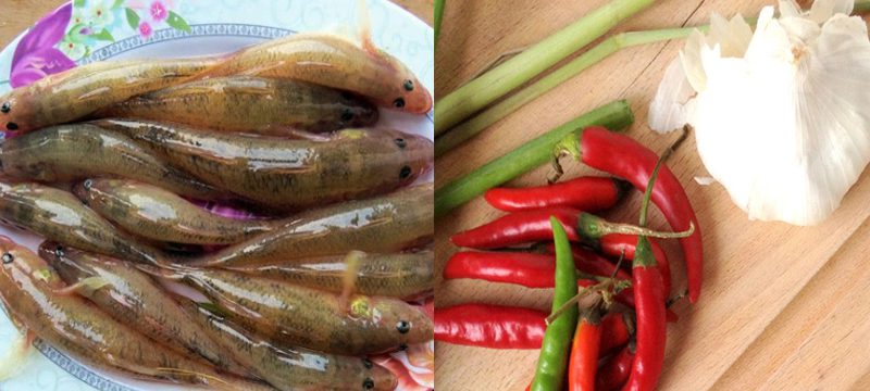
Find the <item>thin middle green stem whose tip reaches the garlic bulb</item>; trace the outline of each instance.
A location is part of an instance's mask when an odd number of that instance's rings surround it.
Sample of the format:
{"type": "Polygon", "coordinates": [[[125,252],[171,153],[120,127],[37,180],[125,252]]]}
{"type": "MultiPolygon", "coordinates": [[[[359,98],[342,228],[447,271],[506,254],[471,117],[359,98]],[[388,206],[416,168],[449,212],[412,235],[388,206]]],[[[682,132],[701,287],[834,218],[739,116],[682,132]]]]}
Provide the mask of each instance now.
{"type": "MultiPolygon", "coordinates": [[[[586,68],[601,62],[601,60],[620,51],[621,49],[671,39],[686,38],[693,30],[695,30],[695,28],[696,27],[685,27],[649,31],[620,33],[607,38],[601,43],[596,45],[594,48],[572,60],[564,66],[554,71],[529,87],[525,87],[517,93],[506,98],[504,101],[484,110],[476,116],[462,124],[459,124],[447,134],[435,139],[435,156],[440,156],[451,149],[459,147],[461,143],[465,142],[465,140],[476,136],[478,133],[483,131],[499,119],[515,112],[518,109],[524,106],[529,102],[537,99],[566,80],[579,75],[586,68]]],[[[438,117],[436,123],[440,121],[440,117],[438,117]]]]}

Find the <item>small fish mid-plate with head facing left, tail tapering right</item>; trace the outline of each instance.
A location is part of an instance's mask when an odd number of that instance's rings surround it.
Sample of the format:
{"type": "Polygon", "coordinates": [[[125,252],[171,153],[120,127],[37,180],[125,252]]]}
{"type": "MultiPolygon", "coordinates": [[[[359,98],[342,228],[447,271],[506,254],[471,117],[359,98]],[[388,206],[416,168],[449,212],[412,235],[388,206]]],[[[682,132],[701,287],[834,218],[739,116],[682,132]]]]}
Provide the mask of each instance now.
{"type": "Polygon", "coordinates": [[[233,244],[286,222],[224,217],[171,191],[129,179],[86,179],[73,187],[73,193],[127,232],[171,243],[233,244]]]}

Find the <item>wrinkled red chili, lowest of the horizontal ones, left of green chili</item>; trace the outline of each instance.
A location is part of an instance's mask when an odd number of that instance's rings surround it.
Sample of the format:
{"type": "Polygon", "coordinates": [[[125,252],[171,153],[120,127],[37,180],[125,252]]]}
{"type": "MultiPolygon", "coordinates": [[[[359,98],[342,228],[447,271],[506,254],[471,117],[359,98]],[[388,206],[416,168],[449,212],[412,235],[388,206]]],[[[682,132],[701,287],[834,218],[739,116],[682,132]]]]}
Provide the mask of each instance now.
{"type": "Polygon", "coordinates": [[[492,349],[540,349],[547,315],[535,310],[488,304],[435,308],[435,340],[492,349]]]}

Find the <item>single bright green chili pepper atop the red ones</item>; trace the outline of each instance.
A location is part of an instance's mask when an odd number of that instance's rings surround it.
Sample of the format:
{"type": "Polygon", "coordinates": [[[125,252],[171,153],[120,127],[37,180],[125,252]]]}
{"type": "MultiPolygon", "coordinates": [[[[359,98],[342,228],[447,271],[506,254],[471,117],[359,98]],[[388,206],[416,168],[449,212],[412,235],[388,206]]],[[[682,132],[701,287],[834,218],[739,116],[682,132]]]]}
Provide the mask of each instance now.
{"type": "MultiPolygon", "coordinates": [[[[556,217],[550,217],[552,240],[556,243],[556,290],[552,295],[552,311],[558,311],[564,302],[577,294],[577,277],[571,243],[564,227],[556,217]]],[[[564,311],[547,326],[540,344],[535,380],[532,391],[561,390],[568,366],[569,349],[577,326],[577,308],[564,311]]]]}

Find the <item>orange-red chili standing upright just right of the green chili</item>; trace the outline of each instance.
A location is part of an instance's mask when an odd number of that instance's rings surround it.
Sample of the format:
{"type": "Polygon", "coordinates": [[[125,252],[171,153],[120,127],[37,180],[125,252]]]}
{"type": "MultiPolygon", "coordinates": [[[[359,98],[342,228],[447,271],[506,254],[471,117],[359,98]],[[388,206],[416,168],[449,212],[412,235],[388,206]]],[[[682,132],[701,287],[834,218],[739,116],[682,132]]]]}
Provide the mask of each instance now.
{"type": "Polygon", "coordinates": [[[601,315],[598,305],[581,313],[571,361],[568,364],[568,390],[594,391],[595,373],[598,370],[598,353],[601,348],[601,315]]]}

